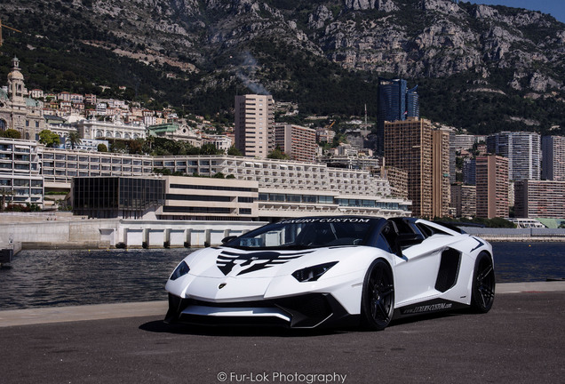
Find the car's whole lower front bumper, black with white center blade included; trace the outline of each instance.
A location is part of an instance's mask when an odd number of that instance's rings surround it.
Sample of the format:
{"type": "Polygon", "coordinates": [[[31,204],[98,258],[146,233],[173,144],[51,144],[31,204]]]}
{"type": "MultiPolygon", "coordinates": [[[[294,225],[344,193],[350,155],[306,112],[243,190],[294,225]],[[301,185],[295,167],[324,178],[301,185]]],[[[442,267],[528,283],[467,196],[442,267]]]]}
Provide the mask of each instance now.
{"type": "Polygon", "coordinates": [[[275,300],[210,302],[181,299],[169,293],[166,323],[267,325],[315,328],[358,324],[330,293],[307,293],[275,300]]]}

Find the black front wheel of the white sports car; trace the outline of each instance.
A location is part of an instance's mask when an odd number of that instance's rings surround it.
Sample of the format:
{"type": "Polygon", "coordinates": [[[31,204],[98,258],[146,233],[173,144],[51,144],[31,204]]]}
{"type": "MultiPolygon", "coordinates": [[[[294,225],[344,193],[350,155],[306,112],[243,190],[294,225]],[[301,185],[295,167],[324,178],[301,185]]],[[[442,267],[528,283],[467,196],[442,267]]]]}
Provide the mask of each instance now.
{"type": "Polygon", "coordinates": [[[381,331],[393,319],[394,278],[385,260],[374,260],[363,281],[361,297],[362,327],[381,331]]]}

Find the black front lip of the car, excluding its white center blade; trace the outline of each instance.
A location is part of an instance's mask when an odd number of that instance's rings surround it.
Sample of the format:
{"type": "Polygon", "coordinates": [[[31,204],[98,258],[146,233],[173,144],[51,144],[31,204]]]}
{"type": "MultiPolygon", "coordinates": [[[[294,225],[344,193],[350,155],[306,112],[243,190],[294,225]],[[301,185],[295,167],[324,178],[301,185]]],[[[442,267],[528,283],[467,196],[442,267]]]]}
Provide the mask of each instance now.
{"type": "Polygon", "coordinates": [[[181,299],[169,293],[169,310],[165,323],[200,325],[267,325],[288,328],[333,327],[358,324],[358,316],[352,316],[330,293],[308,293],[275,300],[214,303],[181,299]],[[290,322],[278,317],[246,316],[199,316],[182,312],[191,305],[214,308],[278,308],[290,317],[290,322]]]}

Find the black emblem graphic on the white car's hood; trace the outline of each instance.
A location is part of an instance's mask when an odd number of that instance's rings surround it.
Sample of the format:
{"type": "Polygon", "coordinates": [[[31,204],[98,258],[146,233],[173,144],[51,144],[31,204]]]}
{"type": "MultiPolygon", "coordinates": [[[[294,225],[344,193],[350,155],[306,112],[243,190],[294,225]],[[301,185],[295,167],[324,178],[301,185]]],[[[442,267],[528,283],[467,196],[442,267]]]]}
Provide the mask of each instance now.
{"type": "Polygon", "coordinates": [[[241,268],[241,270],[235,273],[235,276],[240,276],[256,270],[284,264],[290,260],[298,259],[310,252],[314,251],[292,253],[276,251],[259,251],[249,253],[222,251],[216,260],[216,265],[225,276],[231,273],[236,267],[241,268]]]}

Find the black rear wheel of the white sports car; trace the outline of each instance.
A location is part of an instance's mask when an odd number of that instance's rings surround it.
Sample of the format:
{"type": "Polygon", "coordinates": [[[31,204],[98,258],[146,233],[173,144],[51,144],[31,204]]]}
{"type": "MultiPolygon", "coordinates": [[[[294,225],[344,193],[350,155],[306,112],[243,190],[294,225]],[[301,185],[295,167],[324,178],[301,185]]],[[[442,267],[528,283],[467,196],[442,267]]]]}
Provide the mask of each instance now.
{"type": "Polygon", "coordinates": [[[495,295],[495,273],[487,252],[479,253],[474,262],[471,308],[476,313],[487,313],[492,308],[495,295]]]}

